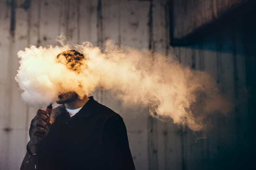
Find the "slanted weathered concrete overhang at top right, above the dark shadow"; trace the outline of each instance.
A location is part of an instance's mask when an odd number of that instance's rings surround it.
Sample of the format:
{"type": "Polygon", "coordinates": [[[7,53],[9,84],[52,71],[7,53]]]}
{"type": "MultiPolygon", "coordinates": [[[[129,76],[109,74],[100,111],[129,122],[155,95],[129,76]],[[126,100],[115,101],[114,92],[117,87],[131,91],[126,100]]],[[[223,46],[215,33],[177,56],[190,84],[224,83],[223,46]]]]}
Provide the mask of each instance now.
{"type": "Polygon", "coordinates": [[[243,15],[249,8],[254,10],[253,0],[170,0],[172,44],[188,44],[195,39],[194,34],[209,34],[221,27],[219,19],[243,15]]]}

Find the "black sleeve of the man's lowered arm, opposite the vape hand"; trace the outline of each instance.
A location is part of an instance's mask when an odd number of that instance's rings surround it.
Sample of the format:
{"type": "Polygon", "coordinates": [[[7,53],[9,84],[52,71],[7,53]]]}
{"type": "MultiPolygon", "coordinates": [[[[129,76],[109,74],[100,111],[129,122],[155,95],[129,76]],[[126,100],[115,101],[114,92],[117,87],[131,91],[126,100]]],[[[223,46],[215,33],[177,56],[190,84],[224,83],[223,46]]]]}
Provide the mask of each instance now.
{"type": "Polygon", "coordinates": [[[106,165],[111,170],[135,170],[125,123],[119,115],[106,121],[103,130],[106,165]]]}

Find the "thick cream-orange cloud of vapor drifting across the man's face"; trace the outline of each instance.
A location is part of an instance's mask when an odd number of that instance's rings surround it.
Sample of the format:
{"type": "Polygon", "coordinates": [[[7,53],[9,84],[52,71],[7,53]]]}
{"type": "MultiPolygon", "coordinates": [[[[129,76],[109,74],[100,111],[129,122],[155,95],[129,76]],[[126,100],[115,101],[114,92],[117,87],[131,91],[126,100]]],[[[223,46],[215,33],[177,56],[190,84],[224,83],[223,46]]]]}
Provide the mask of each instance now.
{"type": "MultiPolygon", "coordinates": [[[[126,105],[149,106],[152,116],[186,124],[191,130],[204,127],[203,119],[212,112],[227,113],[231,103],[218,92],[206,72],[182,66],[174,56],[152,54],[148,50],[117,48],[111,41],[105,50],[90,43],[62,46],[30,46],[18,51],[20,67],[15,80],[29,105],[47,105],[61,93],[74,91],[80,98],[101,88],[126,105]],[[74,49],[85,58],[79,69],[69,69],[56,56],[74,49]]],[[[61,61],[63,60],[63,61],[61,61]]]]}

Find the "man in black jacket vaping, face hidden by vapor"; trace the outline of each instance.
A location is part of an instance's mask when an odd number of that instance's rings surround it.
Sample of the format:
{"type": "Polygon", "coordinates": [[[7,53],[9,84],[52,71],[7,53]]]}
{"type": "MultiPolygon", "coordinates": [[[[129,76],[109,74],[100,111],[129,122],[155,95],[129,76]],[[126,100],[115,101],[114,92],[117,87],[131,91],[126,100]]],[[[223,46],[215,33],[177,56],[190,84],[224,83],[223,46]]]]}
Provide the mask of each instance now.
{"type": "MultiPolygon", "coordinates": [[[[83,58],[75,50],[61,55],[72,63],[70,69],[83,58]]],[[[135,169],[126,127],[117,113],[93,97],[81,100],[72,91],[58,98],[62,105],[53,109],[50,121],[40,109],[31,121],[21,170],[135,169]]]]}

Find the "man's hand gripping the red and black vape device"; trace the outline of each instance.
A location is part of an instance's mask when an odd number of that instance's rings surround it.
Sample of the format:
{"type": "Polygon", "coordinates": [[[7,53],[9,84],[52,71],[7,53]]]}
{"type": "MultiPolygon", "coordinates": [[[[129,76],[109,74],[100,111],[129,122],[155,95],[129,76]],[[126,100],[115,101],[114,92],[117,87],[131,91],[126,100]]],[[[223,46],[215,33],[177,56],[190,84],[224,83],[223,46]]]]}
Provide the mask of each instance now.
{"type": "Polygon", "coordinates": [[[49,120],[50,115],[41,109],[37,111],[37,115],[32,119],[29,128],[30,141],[28,143],[28,149],[32,153],[38,151],[38,147],[42,139],[47,135],[49,127],[52,125],[52,121],[49,120]]]}

